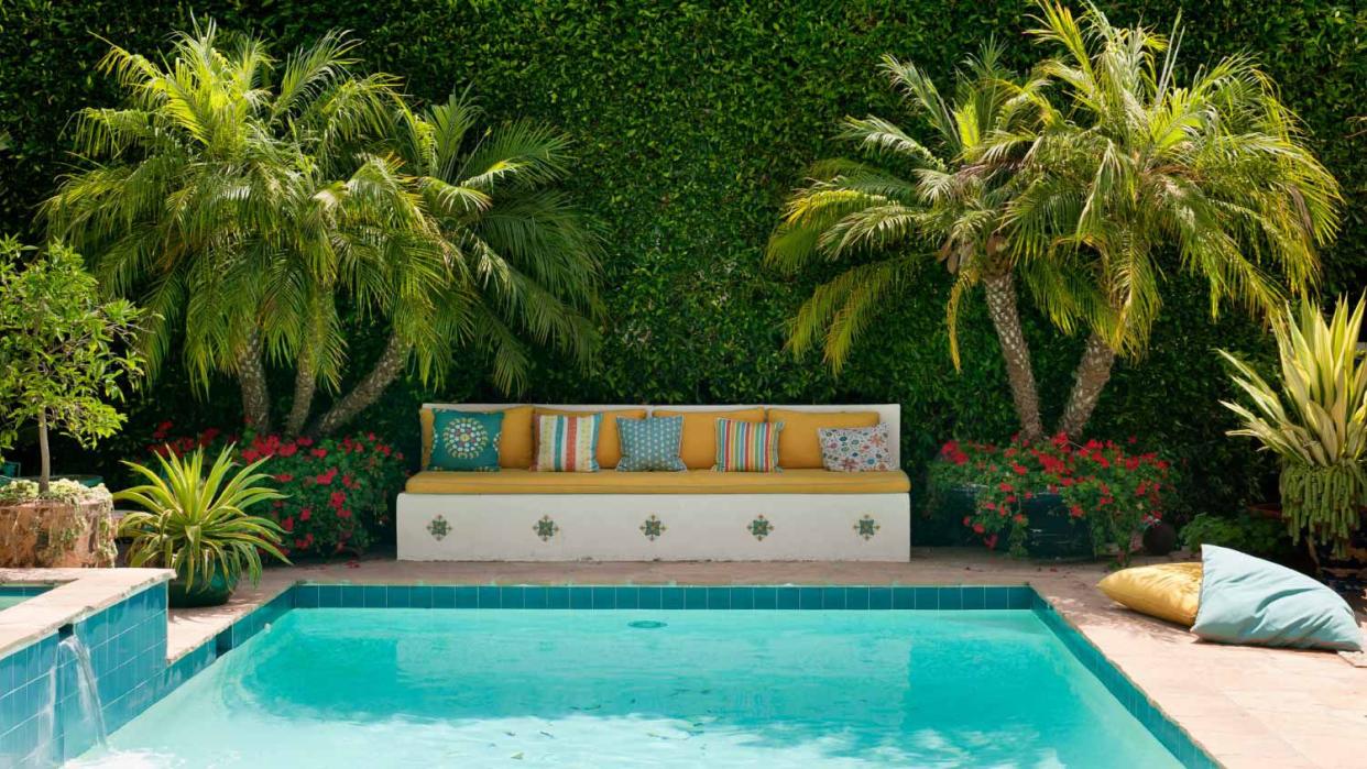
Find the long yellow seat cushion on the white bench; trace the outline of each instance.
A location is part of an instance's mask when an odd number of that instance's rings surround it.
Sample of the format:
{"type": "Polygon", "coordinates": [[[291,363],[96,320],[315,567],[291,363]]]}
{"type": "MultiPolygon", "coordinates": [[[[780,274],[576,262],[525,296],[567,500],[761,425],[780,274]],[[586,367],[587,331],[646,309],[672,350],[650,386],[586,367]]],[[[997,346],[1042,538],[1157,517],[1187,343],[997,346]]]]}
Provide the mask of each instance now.
{"type": "Polygon", "coordinates": [[[912,488],[906,473],[454,473],[409,478],[410,494],[895,494],[912,488]]]}

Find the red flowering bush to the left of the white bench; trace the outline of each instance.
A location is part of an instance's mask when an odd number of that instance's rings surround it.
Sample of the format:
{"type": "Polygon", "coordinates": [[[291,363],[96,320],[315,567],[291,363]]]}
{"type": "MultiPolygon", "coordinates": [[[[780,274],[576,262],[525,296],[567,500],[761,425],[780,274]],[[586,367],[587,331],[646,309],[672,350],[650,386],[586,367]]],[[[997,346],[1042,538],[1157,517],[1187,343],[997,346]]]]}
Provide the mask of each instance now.
{"type": "Polygon", "coordinates": [[[242,462],[271,458],[267,469],[287,497],[272,503],[265,515],[284,530],[287,555],[364,553],[390,525],[390,505],[407,475],[403,453],[375,433],[282,438],[208,429],[194,437],[170,438],[171,429],[170,422],[157,425],[152,434],[157,443],[148,448],[183,453],[236,443],[242,462]]]}

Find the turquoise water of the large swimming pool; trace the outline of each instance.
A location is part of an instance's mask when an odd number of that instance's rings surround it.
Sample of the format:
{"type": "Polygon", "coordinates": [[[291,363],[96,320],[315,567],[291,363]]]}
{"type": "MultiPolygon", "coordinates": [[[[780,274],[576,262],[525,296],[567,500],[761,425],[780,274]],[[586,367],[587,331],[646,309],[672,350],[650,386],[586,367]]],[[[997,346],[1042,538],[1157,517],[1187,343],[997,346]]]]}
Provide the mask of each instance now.
{"type": "Polygon", "coordinates": [[[1178,764],[1028,611],[308,609],[79,765],[1178,764]]]}

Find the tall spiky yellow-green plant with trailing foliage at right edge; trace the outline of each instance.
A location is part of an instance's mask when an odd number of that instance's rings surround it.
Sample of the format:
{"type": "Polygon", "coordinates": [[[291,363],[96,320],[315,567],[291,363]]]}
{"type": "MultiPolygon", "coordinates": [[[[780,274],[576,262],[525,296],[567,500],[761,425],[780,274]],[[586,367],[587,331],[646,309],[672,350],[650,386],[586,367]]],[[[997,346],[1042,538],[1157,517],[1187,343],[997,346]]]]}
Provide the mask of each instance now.
{"type": "Polygon", "coordinates": [[[1299,322],[1288,307],[1273,326],[1280,387],[1219,351],[1252,400],[1252,408],[1223,402],[1244,422],[1229,434],[1258,438],[1281,458],[1292,540],[1330,545],[1334,557],[1346,555],[1367,507],[1367,359],[1357,350],[1364,310],[1367,295],[1352,310],[1341,296],[1329,321],[1312,302],[1301,305],[1299,322]]]}

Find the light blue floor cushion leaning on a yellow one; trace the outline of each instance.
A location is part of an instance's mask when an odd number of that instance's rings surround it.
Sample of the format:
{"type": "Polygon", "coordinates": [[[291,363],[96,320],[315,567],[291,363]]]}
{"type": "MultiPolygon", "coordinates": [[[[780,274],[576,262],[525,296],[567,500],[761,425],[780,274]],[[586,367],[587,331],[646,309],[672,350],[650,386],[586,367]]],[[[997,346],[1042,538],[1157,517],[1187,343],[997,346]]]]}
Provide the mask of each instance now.
{"type": "Polygon", "coordinates": [[[1200,609],[1192,632],[1206,641],[1359,652],[1363,634],[1348,602],[1304,574],[1202,545],[1200,609]]]}

